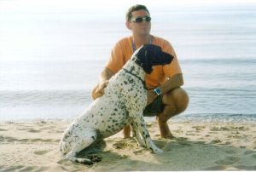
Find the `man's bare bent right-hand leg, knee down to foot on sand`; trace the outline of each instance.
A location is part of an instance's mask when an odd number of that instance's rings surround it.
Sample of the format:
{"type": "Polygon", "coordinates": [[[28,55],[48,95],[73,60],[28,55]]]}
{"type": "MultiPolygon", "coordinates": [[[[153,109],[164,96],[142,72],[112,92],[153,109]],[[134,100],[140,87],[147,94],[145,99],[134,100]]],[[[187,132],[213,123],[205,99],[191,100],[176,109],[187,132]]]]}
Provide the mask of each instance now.
{"type": "Polygon", "coordinates": [[[160,127],[160,135],[163,138],[173,138],[168,127],[167,120],[185,111],[189,105],[189,95],[182,88],[172,89],[171,92],[163,96],[164,111],[157,116],[160,127]]]}

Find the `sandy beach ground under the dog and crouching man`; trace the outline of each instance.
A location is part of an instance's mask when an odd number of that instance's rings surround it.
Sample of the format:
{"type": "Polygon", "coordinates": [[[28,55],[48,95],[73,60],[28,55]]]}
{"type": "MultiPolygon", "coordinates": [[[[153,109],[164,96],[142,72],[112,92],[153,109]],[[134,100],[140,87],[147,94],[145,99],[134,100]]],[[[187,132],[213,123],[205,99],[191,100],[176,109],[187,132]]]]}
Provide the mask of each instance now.
{"type": "Polygon", "coordinates": [[[148,123],[152,154],[122,134],[106,139],[87,166],[61,160],[59,140],[68,123],[0,123],[0,171],[256,170],[256,123],[169,123],[174,139],[160,138],[157,123],[148,123]]]}

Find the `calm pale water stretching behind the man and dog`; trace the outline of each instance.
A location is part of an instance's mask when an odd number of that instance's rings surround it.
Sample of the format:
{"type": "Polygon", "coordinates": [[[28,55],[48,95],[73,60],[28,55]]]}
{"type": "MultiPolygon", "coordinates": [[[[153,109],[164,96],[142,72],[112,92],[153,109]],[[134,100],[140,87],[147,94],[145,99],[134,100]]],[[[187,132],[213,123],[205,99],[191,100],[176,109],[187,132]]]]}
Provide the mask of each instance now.
{"type": "MultiPolygon", "coordinates": [[[[150,11],[152,34],[172,43],[190,97],[172,121],[255,122],[256,4],[150,11]]],[[[114,43],[130,35],[119,10],[0,14],[0,121],[76,117],[114,43]]]]}

